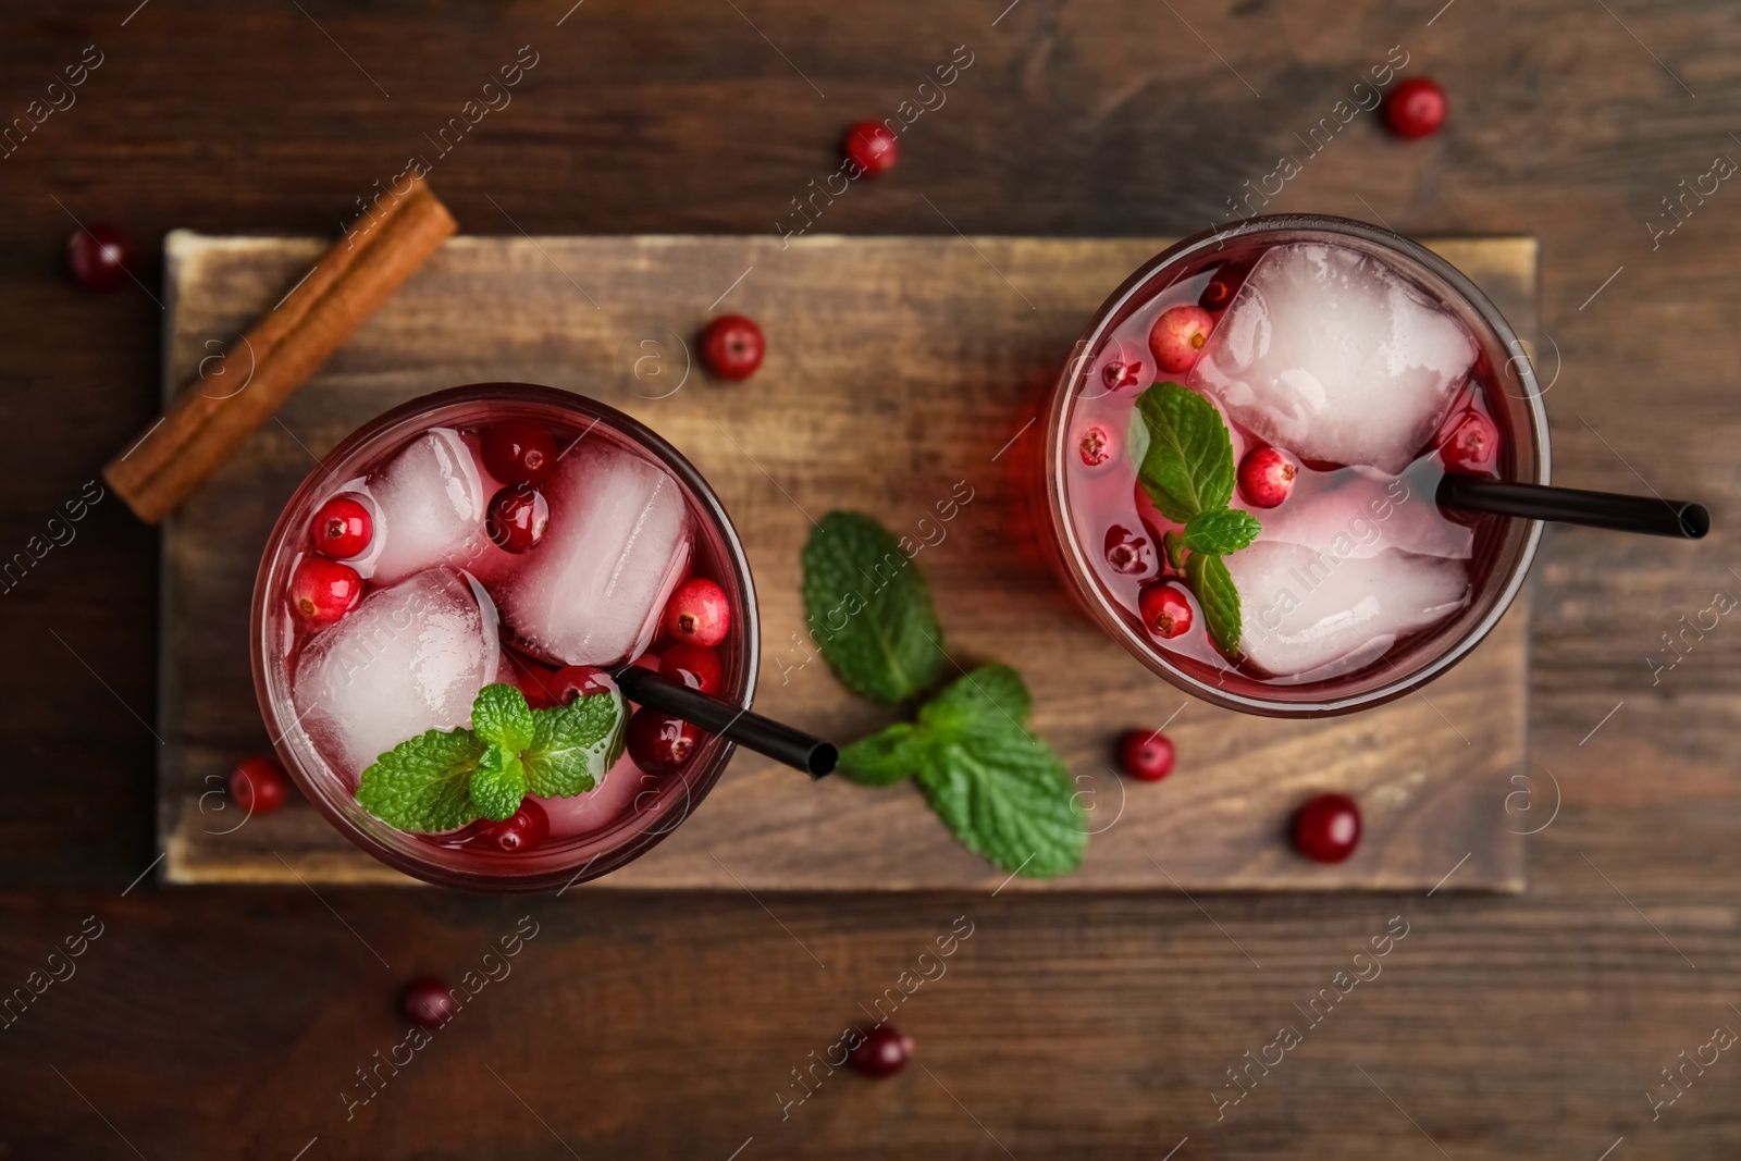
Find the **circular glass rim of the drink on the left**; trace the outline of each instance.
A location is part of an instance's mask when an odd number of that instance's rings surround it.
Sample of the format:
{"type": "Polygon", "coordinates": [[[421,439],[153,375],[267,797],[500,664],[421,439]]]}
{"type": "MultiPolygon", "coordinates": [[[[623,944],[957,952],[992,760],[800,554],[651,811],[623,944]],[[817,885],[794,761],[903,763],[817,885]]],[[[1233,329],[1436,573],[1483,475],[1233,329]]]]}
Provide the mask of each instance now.
{"type": "MultiPolygon", "coordinates": [[[[308,500],[317,491],[331,487],[331,480],[334,477],[346,479],[338,473],[336,468],[357,456],[364,447],[388,437],[414,435],[413,426],[416,421],[444,407],[493,400],[550,406],[595,423],[604,423],[634,446],[644,449],[677,477],[679,484],[684,486],[688,494],[700,507],[703,520],[717,529],[721,547],[724,548],[723,562],[731,571],[738,592],[743,595],[742,607],[733,609],[742,616],[743,634],[743,648],[740,649],[740,663],[736,667],[738,672],[735,674],[742,693],[733,701],[740,708],[750,708],[756,698],[757,675],[761,672],[761,618],[756,607],[756,581],[736,526],[733,526],[731,517],[726,513],[724,505],[721,505],[719,496],[714,494],[714,489],[707,484],[707,479],[662,435],[609,404],[578,392],[541,386],[536,383],[508,381],[449,386],[427,395],[418,395],[416,399],[409,399],[395,407],[390,407],[388,411],[383,411],[359,425],[353,432],[350,432],[350,435],[341,439],[333,451],[322,456],[320,463],[313,466],[306,477],[303,477],[303,482],[298,484],[296,491],[284,501],[284,508],[279,512],[279,519],[273,522],[266,545],[261,550],[259,567],[254,574],[254,592],[249,609],[249,651],[252,654],[254,696],[259,703],[261,719],[273,738],[272,747],[277,752],[279,761],[284,762],[291,780],[296,782],[298,789],[303,792],[303,797],[308,799],[308,802],[327,820],[327,823],[333,825],[334,830],[343,834],[364,853],[402,874],[435,886],[491,893],[541,891],[548,888],[566,889],[575,882],[595,879],[629,862],[634,862],[676,830],[682,820],[688,818],[688,813],[695,809],[695,806],[698,806],[719,782],[726,764],[736,752],[736,743],[728,738],[717,738],[717,747],[709,759],[707,768],[700,769],[693,778],[684,778],[684,792],[681,795],[663,795],[667,797],[667,802],[660,804],[656,811],[648,816],[648,825],[625,837],[620,846],[595,853],[590,858],[576,856],[575,860],[564,862],[561,867],[554,869],[528,870],[521,874],[481,872],[453,867],[442,862],[439,855],[440,848],[430,848],[430,855],[427,858],[413,856],[397,846],[390,846],[381,837],[364,827],[359,827],[350,816],[346,816],[346,813],[334,802],[334,787],[327,785],[333,780],[326,776],[312,776],[303,769],[296,750],[291,748],[289,738],[291,731],[298,724],[298,719],[284,721],[284,715],[277,712],[279,707],[275,695],[284,693],[286,705],[291,705],[291,701],[287,700],[287,691],[279,691],[272,674],[268,674],[266,658],[272,649],[277,648],[275,641],[266,639],[270,632],[266,613],[273,592],[272,576],[273,571],[284,564],[286,554],[292,552],[291,545],[298,538],[299,524],[292,520],[292,515],[305,508],[308,500]],[[672,815],[677,815],[677,818],[669,822],[672,815]],[[576,867],[580,869],[578,872],[576,867]],[[592,874],[587,874],[588,870],[592,874]]],[[[381,825],[387,827],[388,823],[381,825]]]]}

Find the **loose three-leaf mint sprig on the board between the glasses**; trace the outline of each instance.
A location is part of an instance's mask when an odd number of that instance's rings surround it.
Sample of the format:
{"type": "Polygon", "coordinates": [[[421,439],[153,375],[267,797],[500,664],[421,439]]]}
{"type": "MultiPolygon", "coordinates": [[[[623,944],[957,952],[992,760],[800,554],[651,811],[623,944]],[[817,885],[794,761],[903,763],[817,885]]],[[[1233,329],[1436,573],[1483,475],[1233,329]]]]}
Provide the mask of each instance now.
{"type": "Polygon", "coordinates": [[[1048,879],[1088,849],[1086,815],[1064,761],[1027,731],[1031,698],[1008,665],[984,665],[919,710],[841,752],[865,785],[918,780],[963,846],[992,865],[1048,879]]]}

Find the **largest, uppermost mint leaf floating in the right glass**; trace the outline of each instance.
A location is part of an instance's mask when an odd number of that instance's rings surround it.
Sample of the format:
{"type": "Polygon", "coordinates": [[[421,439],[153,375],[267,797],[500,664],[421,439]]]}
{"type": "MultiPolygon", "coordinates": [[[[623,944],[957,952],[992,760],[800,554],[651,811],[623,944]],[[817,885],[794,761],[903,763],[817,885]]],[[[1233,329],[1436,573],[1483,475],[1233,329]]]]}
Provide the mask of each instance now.
{"type": "Polygon", "coordinates": [[[1149,432],[1137,480],[1168,520],[1233,500],[1233,439],[1215,404],[1179,383],[1156,383],[1137,399],[1149,432]]]}

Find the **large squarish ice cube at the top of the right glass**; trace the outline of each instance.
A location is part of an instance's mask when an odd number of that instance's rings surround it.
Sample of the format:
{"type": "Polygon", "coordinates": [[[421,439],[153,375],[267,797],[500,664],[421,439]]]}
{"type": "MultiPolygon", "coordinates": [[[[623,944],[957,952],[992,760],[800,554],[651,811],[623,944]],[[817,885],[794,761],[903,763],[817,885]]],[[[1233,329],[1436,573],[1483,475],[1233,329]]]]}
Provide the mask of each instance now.
{"type": "Polygon", "coordinates": [[[1478,355],[1473,336],[1377,258],[1271,247],[1208,338],[1191,386],[1306,460],[1402,472],[1478,355]]]}

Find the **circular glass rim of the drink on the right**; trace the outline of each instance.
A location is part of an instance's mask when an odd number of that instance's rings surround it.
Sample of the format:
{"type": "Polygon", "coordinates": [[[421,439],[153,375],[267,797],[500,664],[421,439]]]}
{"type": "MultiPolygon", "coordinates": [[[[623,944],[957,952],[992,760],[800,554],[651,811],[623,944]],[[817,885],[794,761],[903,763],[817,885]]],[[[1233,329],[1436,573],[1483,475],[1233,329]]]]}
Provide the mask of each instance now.
{"type": "MultiPolygon", "coordinates": [[[[1071,402],[1076,395],[1078,385],[1086,381],[1088,369],[1092,364],[1092,355],[1100,350],[1102,343],[1107,339],[1112,325],[1112,319],[1132,303],[1137,296],[1149,289],[1149,284],[1163,270],[1179,265],[1189,258],[1198,258],[1207,251],[1220,249],[1227,242],[1236,238],[1248,238],[1254,235],[1266,233],[1287,233],[1287,232],[1309,232],[1309,233],[1328,233],[1356,238],[1368,245],[1375,245],[1386,251],[1395,251],[1407,259],[1421,265],[1433,277],[1440,279],[1452,292],[1462,298],[1462,301],[1475,312],[1494,338],[1499,346],[1511,353],[1511,362],[1508,366],[1516,371],[1522,381],[1522,393],[1513,395],[1523,404],[1523,411],[1529,418],[1529,433],[1534,437],[1536,449],[1536,472],[1534,479],[1527,480],[1532,484],[1548,484],[1551,479],[1551,451],[1548,440],[1548,413],[1543,406],[1541,386],[1536,379],[1536,369],[1530,362],[1523,343],[1518,339],[1511,324],[1506,322],[1499,308],[1494,306],[1492,299],[1469,280],[1454,265],[1421,245],[1414,238],[1407,238],[1395,230],[1382,226],[1374,226],[1370,223],[1354,221],[1351,218],[1335,218],[1330,214],[1264,214],[1255,218],[1243,218],[1238,223],[1227,226],[1212,226],[1201,230],[1191,237],[1173,242],[1165,251],[1154,258],[1142,263],[1128,279],[1107,299],[1095,310],[1088,325],[1083,329],[1081,338],[1072,348],[1069,362],[1059,376],[1059,383],[1053,388],[1052,400],[1046,406],[1046,440],[1045,440],[1045,477],[1046,477],[1046,515],[1052,522],[1052,531],[1060,545],[1060,557],[1065,571],[1069,573],[1071,583],[1076,595],[1088,604],[1090,614],[1100,627],[1125,648],[1126,653],[1142,661],[1149,670],[1166,679],[1173,686],[1184,689],[1186,693],[1198,696],[1220,708],[1241,710],[1245,714],[1254,714],[1260,717],[1328,717],[1341,714],[1353,714],[1363,708],[1374,708],[1384,705],[1386,701],[1395,701],[1400,696],[1414,693],[1421,686],[1428,684],[1452,665],[1468,656],[1487,634],[1504,618],[1511,609],[1511,602],[1516,599],[1529,578],[1529,569],[1536,560],[1536,550],[1541,545],[1541,520],[1529,520],[1529,529],[1523,536],[1523,543],[1516,550],[1509,571],[1502,578],[1496,578],[1492,588],[1497,597],[1492,607],[1475,621],[1450,648],[1440,653],[1431,661],[1421,665],[1419,668],[1396,677],[1395,681],[1375,686],[1365,693],[1348,695],[1341,698],[1323,698],[1316,701],[1280,701],[1271,698],[1257,698],[1241,693],[1233,693],[1222,686],[1205,682],[1179,665],[1172,663],[1163,651],[1153,648],[1146,639],[1139,637],[1137,632],[1119,616],[1118,607],[1111,602],[1107,594],[1097,583],[1092,574],[1092,567],[1086,564],[1086,550],[1081,540],[1076,536],[1074,522],[1069,519],[1067,501],[1064,496],[1064,454],[1065,454],[1065,416],[1069,413],[1071,402]]],[[[1511,392],[1506,392],[1511,395],[1511,392]]]]}

